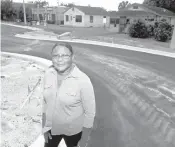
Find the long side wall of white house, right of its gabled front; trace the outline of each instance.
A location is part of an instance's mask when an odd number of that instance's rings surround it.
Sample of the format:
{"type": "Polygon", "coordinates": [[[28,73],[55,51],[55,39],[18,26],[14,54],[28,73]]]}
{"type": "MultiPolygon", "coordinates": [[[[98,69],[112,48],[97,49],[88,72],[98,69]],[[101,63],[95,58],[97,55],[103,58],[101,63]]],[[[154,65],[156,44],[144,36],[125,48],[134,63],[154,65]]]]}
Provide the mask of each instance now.
{"type": "MultiPolygon", "coordinates": [[[[106,16],[106,27],[110,25],[110,17],[106,16]]],[[[90,15],[85,15],[85,27],[104,27],[103,16],[93,15],[93,22],[90,22],[90,15]]]]}

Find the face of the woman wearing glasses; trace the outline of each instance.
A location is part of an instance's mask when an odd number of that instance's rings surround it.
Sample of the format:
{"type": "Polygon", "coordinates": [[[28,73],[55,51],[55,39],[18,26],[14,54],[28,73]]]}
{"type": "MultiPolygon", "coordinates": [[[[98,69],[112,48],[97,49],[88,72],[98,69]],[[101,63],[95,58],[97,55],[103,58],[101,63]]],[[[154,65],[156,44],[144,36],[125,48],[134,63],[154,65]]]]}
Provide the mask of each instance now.
{"type": "Polygon", "coordinates": [[[73,55],[68,48],[57,46],[52,52],[52,62],[58,72],[64,73],[72,66],[73,55]]]}

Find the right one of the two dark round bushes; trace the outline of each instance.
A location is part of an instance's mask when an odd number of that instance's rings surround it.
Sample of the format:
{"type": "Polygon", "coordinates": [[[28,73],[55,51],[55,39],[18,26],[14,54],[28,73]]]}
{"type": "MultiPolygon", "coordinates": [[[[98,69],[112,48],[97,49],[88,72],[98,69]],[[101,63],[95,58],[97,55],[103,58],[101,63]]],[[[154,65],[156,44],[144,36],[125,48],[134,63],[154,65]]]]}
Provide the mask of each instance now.
{"type": "Polygon", "coordinates": [[[154,38],[157,41],[166,42],[170,40],[173,34],[173,26],[166,21],[158,22],[154,28],[154,38]]]}

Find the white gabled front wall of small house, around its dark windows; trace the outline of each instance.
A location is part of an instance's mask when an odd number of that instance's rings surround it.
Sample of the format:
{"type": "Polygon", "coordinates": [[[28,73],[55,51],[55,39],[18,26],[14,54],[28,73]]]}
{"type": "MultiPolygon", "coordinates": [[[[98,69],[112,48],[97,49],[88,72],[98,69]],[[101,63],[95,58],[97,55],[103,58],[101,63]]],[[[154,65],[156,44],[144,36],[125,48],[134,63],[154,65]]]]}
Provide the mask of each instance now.
{"type": "Polygon", "coordinates": [[[64,13],[64,25],[84,27],[84,24],[85,24],[85,14],[80,10],[78,10],[77,8],[74,9],[71,8],[64,13]],[[66,21],[66,15],[69,16],[69,21],[66,21]],[[76,15],[82,16],[82,22],[76,22],[76,15]]]}

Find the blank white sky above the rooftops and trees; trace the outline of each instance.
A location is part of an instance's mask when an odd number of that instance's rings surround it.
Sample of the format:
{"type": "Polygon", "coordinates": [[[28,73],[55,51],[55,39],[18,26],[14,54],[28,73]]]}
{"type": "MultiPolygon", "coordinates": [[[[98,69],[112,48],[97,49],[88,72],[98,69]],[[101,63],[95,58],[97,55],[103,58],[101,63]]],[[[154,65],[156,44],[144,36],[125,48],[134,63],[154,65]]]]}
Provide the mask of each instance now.
{"type": "MultiPolygon", "coordinates": [[[[23,0],[13,0],[14,2],[23,2],[23,0]]],[[[31,0],[25,0],[28,2],[31,0]]],[[[49,2],[49,6],[57,5],[58,0],[46,0],[49,2]]],[[[118,4],[123,0],[59,0],[59,3],[74,3],[75,5],[87,6],[91,5],[92,7],[103,7],[107,10],[118,10],[118,4]]],[[[128,0],[130,3],[142,3],[143,0],[128,0]]]]}

